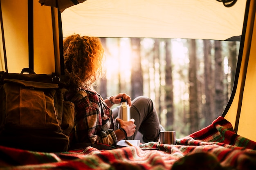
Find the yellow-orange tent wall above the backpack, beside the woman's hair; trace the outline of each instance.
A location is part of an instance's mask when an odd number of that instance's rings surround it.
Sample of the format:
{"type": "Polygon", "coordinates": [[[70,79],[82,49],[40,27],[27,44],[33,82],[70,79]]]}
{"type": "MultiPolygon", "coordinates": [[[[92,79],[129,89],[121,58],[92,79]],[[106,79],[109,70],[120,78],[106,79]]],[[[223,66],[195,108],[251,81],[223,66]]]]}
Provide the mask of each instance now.
{"type": "MultiPolygon", "coordinates": [[[[22,68],[29,67],[28,1],[1,0],[0,2],[8,72],[20,73],[22,68]]],[[[56,8],[41,6],[38,0],[32,2],[34,2],[34,72],[51,74],[55,72],[54,55],[59,55],[58,11],[56,8]]],[[[0,71],[5,71],[2,45],[1,41],[0,71]]]]}

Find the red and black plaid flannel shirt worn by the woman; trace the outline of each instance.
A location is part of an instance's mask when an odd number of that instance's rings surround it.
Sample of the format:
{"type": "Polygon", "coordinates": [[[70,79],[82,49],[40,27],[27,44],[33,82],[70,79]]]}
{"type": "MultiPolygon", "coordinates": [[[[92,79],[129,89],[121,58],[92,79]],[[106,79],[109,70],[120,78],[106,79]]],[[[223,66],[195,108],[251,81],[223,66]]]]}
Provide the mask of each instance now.
{"type": "Polygon", "coordinates": [[[69,92],[65,99],[75,105],[74,129],[77,142],[117,144],[112,110],[101,95],[87,88],[69,92]]]}

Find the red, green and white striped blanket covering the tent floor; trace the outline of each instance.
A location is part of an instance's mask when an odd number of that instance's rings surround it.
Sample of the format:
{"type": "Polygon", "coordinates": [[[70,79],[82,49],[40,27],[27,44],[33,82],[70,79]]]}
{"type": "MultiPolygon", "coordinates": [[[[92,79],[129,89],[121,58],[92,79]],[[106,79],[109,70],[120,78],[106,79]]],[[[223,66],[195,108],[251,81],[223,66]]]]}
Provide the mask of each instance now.
{"type": "Polygon", "coordinates": [[[176,145],[149,142],[112,150],[88,146],[57,153],[0,146],[0,169],[256,170],[256,142],[236,135],[232,125],[218,117],[208,127],[176,139],[176,145]]]}

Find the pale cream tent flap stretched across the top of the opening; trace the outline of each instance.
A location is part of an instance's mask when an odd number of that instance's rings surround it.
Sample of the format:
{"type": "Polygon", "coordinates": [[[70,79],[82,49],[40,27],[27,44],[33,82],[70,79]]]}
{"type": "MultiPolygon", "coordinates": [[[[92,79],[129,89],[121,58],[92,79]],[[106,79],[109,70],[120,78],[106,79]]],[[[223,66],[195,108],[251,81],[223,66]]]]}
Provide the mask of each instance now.
{"type": "Polygon", "coordinates": [[[62,12],[63,36],[195,38],[241,35],[246,0],[86,0],[62,12]]]}

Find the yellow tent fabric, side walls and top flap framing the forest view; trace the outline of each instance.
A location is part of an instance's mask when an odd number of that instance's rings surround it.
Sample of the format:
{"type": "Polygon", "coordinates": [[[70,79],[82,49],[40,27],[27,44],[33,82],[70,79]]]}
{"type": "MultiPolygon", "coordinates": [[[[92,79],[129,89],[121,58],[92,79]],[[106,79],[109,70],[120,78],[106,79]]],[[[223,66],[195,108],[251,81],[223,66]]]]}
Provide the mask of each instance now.
{"type": "Polygon", "coordinates": [[[72,33],[210,40],[241,35],[235,84],[222,116],[239,135],[256,141],[252,131],[256,122],[256,0],[229,1],[231,7],[219,1],[87,0],[60,13],[38,0],[33,0],[32,5],[25,0],[1,0],[4,43],[0,48],[0,71],[6,71],[3,56],[7,55],[9,72],[20,73],[33,63],[38,74],[58,72],[60,66],[55,70],[54,63],[58,62],[53,56],[61,55],[62,35],[72,33]],[[63,29],[59,29],[61,24],[63,29]],[[34,55],[34,61],[28,61],[28,55],[34,55]]]}

